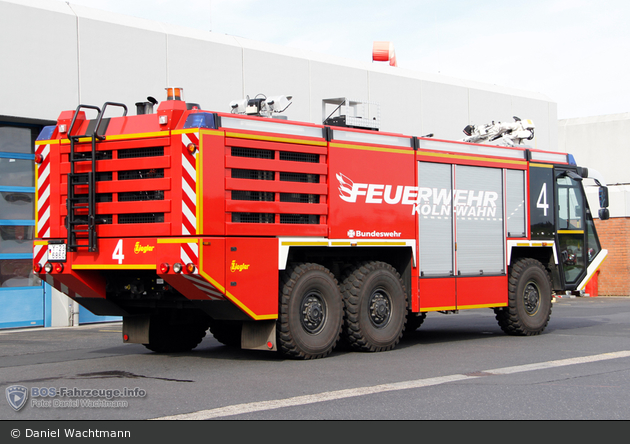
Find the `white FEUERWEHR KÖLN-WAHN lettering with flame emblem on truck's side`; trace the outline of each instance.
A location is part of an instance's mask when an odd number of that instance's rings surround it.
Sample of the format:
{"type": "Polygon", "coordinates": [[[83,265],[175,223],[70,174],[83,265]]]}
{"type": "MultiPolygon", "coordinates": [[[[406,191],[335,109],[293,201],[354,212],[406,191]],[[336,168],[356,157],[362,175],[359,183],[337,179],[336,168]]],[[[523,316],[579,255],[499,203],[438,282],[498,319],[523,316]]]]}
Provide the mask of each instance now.
{"type": "Polygon", "coordinates": [[[353,182],[342,173],[339,197],[348,203],[357,203],[359,196],[367,204],[412,205],[411,214],[423,216],[496,217],[499,193],[495,191],[451,190],[445,188],[414,187],[353,182]]]}

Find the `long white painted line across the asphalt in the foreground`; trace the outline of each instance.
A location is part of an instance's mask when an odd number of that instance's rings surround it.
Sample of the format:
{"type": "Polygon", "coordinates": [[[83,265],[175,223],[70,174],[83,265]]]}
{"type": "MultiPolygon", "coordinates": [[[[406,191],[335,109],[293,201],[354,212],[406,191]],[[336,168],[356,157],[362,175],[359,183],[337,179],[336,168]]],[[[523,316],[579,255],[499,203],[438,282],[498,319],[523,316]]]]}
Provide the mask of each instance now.
{"type": "MultiPolygon", "coordinates": [[[[556,361],[540,362],[536,364],[525,364],[514,367],[497,368],[494,370],[486,370],[480,373],[492,375],[509,375],[518,372],[528,372],[533,370],[542,370],[552,367],[562,367],[566,365],[585,364],[589,362],[605,361],[608,359],[618,359],[630,357],[630,350],[602,353],[593,356],[584,356],[581,358],[560,359],[556,361]]],[[[429,387],[433,385],[446,384],[449,382],[465,381],[469,379],[483,378],[486,376],[467,376],[467,375],[450,375],[439,376],[436,378],[416,379],[412,381],[394,382],[390,384],[380,384],[370,387],[358,387],[353,389],[336,390],[333,392],[317,393],[314,395],[296,396],[294,398],[274,399],[271,401],[250,402],[246,404],[229,405],[210,410],[200,410],[198,412],[183,413],[180,415],[163,416],[161,418],[153,418],[153,420],[205,420],[212,418],[220,418],[223,416],[242,415],[244,413],[260,412],[264,410],[274,410],[284,407],[292,407],[306,404],[314,404],[317,402],[334,401],[337,399],[353,398],[356,396],[373,395],[376,393],[392,392],[396,390],[408,390],[421,387],[429,387]]]]}

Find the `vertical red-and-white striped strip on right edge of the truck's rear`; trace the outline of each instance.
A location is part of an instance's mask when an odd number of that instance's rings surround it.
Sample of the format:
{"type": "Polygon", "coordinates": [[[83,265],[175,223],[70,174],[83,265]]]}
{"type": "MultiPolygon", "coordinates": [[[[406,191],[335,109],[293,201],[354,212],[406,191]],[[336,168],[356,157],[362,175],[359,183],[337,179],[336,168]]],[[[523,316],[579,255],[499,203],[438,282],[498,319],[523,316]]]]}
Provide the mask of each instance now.
{"type": "Polygon", "coordinates": [[[182,134],[182,234],[197,234],[197,150],[193,154],[188,145],[199,146],[196,134],[182,134]]]}

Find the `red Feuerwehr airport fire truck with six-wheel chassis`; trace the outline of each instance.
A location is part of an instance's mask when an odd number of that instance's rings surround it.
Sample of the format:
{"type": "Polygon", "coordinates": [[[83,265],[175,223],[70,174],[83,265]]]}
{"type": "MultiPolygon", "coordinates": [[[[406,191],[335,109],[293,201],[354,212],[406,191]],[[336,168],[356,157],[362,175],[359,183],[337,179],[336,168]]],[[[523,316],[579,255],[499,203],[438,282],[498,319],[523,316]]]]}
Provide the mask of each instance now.
{"type": "Polygon", "coordinates": [[[208,112],[168,91],[135,116],[79,105],[36,142],[34,271],[122,316],[124,342],[188,351],[210,329],[310,359],[341,338],[390,350],[428,312],[476,308],[537,335],[554,292],[606,256],[570,155],[208,112]]]}

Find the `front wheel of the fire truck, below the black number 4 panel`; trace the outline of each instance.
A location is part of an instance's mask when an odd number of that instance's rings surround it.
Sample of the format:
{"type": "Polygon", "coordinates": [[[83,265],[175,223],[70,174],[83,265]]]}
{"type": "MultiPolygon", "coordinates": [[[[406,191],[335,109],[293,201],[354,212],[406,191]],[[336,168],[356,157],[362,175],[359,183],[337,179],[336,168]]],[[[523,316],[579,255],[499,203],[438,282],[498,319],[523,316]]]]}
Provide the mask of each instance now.
{"type": "Polygon", "coordinates": [[[518,336],[542,333],[551,317],[551,292],[545,267],[535,259],[519,259],[510,270],[508,306],[495,309],[501,329],[518,336]]]}

